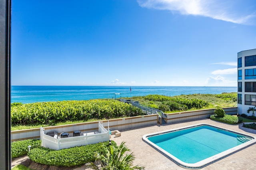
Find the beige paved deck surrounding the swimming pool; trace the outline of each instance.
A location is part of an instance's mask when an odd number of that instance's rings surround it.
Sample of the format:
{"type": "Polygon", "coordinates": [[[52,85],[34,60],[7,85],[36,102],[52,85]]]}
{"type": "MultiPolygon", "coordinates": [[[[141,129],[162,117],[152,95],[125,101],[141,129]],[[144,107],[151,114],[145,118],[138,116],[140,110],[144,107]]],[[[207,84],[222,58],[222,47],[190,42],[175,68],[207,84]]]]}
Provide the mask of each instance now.
{"type": "MultiPolygon", "coordinates": [[[[120,131],[121,137],[112,138],[118,145],[122,141],[126,142],[127,147],[134,153],[135,161],[134,165],[145,166],[145,170],[185,170],[172,162],[166,156],[150,147],[147,143],[142,141],[142,136],[148,133],[154,133],[159,131],[165,131],[169,129],[175,129],[190,125],[196,125],[200,123],[210,124],[232,131],[244,133],[256,138],[256,130],[242,127],[242,123],[238,125],[229,125],[226,123],[220,123],[212,121],[210,119],[202,119],[198,121],[189,121],[184,123],[166,124],[166,125],[153,125],[148,127],[142,127],[138,129],[127,129],[126,131],[120,131]]],[[[254,170],[256,167],[256,144],[240,150],[226,158],[218,160],[213,164],[210,164],[202,170],[223,170],[223,169],[236,169],[236,170],[254,170]]]]}

